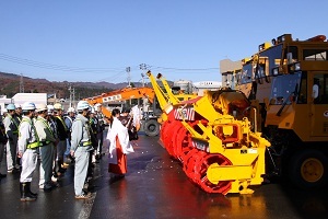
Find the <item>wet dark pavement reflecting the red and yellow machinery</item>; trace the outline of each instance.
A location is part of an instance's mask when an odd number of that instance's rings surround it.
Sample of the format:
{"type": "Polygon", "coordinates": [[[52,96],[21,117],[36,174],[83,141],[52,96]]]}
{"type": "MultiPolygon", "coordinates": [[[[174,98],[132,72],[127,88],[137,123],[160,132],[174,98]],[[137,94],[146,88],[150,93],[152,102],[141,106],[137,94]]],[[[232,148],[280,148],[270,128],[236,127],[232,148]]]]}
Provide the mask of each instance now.
{"type": "Polygon", "coordinates": [[[89,200],[74,199],[72,166],[61,187],[50,193],[34,181],[32,188],[39,195],[31,203],[20,201],[20,174],[8,174],[0,182],[0,218],[328,218],[328,188],[305,193],[271,183],[253,195],[207,194],[190,183],[157,140],[140,136],[128,158],[128,174],[119,181],[109,177],[105,155],[94,169],[89,200]]]}

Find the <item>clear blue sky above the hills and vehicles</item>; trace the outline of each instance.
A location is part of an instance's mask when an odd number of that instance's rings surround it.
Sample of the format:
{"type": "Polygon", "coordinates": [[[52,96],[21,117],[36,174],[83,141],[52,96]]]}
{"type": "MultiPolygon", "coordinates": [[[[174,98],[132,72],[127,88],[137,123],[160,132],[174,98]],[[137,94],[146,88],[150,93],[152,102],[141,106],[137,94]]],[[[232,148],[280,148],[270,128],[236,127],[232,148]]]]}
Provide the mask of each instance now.
{"type": "Polygon", "coordinates": [[[290,33],[328,35],[327,0],[0,0],[0,71],[49,81],[221,81],[241,60],[290,33]],[[315,3],[313,3],[315,2],[315,3]]]}

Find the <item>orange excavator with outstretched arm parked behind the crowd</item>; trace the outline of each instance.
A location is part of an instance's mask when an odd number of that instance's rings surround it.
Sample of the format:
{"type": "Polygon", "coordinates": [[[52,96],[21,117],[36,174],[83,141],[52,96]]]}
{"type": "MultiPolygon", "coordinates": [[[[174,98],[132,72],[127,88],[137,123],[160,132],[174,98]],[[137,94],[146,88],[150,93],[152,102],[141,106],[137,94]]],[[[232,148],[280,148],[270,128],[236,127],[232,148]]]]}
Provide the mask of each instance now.
{"type": "Polygon", "coordinates": [[[157,118],[161,116],[161,111],[157,113],[155,93],[151,88],[124,88],[84,100],[92,105],[102,104],[102,113],[106,117],[110,117],[110,112],[114,108],[122,110],[124,107],[134,105],[142,106],[142,130],[144,130],[148,136],[157,136],[160,132],[157,118]]]}

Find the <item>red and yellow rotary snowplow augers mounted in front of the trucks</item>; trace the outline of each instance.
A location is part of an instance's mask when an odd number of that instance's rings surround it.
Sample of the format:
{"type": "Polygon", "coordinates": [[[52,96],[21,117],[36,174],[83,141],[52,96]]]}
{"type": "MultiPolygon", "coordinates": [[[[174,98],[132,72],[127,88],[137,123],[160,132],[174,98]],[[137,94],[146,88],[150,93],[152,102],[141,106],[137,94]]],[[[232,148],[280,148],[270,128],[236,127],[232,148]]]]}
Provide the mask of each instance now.
{"type": "Polygon", "coordinates": [[[166,117],[161,141],[187,176],[208,193],[251,194],[248,186],[263,182],[270,142],[251,131],[249,119],[256,111],[249,111],[246,96],[220,90],[179,101],[167,88],[165,93],[150,71],[147,74],[166,117]]]}

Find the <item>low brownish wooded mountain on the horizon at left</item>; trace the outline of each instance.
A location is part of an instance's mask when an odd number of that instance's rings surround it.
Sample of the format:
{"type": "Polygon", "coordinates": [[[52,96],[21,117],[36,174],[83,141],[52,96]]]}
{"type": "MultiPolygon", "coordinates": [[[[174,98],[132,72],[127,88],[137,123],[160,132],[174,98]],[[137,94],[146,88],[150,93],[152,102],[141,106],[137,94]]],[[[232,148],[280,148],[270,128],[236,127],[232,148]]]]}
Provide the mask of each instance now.
{"type": "MultiPolygon", "coordinates": [[[[0,71],[0,95],[12,97],[14,94],[24,91],[25,93],[48,93],[56,94],[58,99],[68,99],[70,96],[69,88],[74,90],[75,100],[99,95],[112,90],[126,88],[128,83],[108,83],[102,82],[54,82],[46,79],[32,79],[21,77],[14,73],[0,71]]],[[[133,87],[141,87],[140,82],[132,82],[133,87]]]]}

